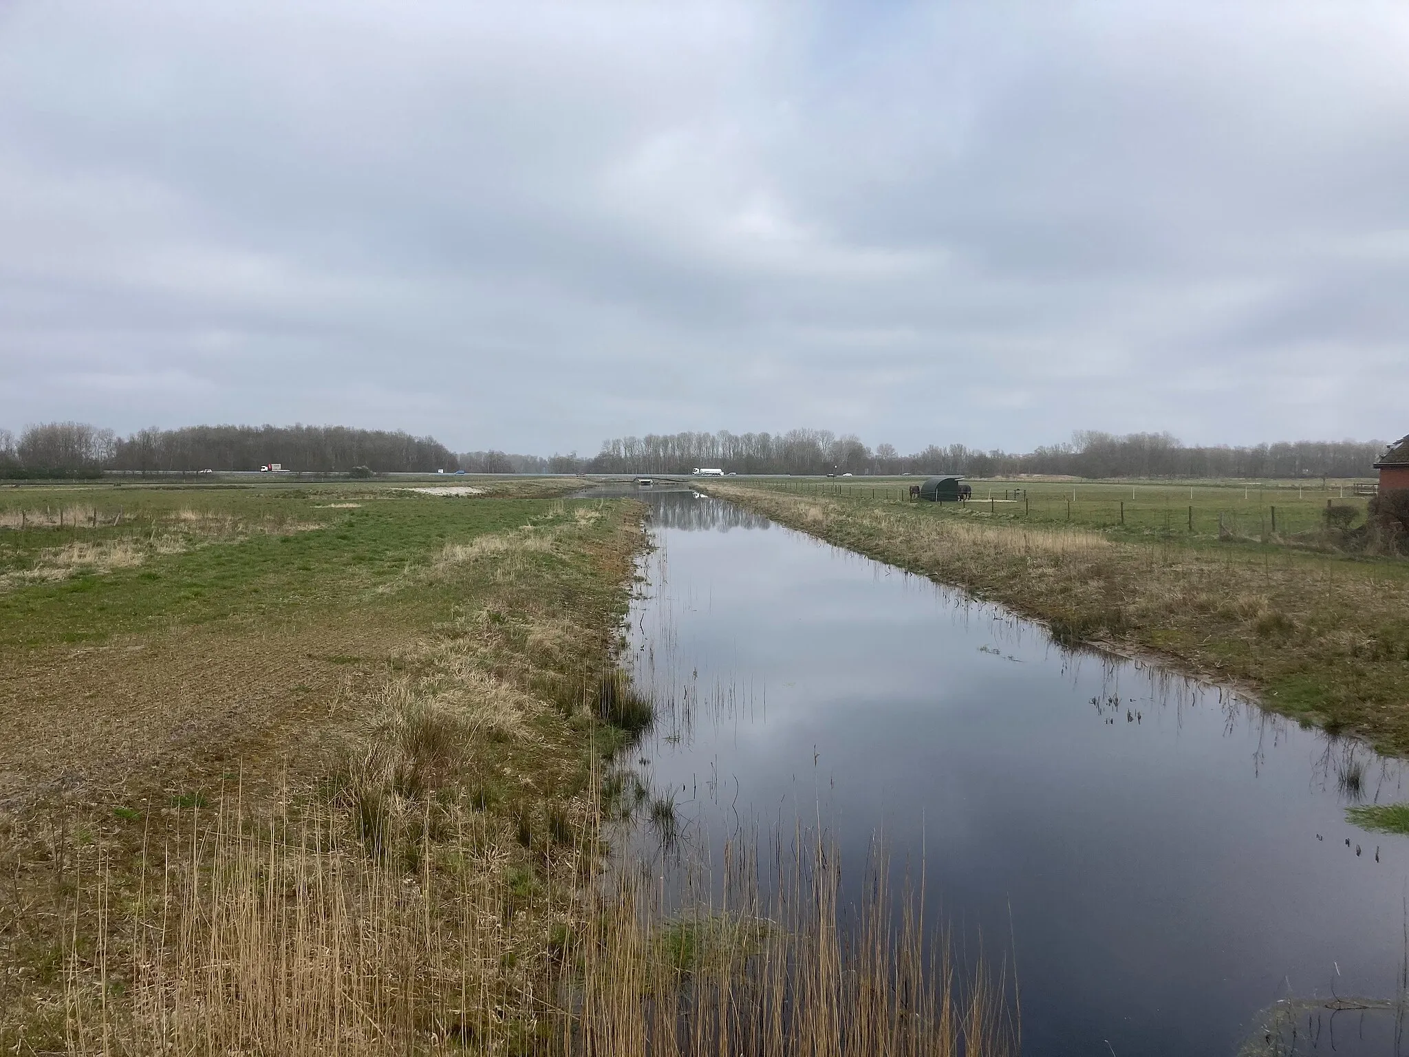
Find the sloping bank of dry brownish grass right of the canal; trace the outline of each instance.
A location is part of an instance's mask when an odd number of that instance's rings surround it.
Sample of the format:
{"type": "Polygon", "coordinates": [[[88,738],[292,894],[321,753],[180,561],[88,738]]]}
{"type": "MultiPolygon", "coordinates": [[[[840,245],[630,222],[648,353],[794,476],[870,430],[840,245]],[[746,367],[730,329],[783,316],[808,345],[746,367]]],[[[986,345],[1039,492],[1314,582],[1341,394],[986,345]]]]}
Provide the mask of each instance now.
{"type": "Polygon", "coordinates": [[[1136,534],[1055,514],[1034,520],[1012,493],[999,513],[998,502],[907,503],[893,492],[872,496],[869,485],[830,495],[796,482],[706,488],[1002,602],[1045,622],[1058,640],[1154,651],[1243,684],[1299,720],[1409,753],[1409,562],[1162,526],[1136,534]]]}

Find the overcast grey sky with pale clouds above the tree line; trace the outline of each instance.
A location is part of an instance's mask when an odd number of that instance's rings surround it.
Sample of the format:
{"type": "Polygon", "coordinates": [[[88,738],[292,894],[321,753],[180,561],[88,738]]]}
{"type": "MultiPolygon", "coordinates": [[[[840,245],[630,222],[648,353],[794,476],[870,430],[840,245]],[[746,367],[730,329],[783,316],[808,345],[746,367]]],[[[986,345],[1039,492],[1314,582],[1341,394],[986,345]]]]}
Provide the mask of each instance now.
{"type": "Polygon", "coordinates": [[[0,0],[0,426],[1409,431],[1409,4],[0,0]]]}

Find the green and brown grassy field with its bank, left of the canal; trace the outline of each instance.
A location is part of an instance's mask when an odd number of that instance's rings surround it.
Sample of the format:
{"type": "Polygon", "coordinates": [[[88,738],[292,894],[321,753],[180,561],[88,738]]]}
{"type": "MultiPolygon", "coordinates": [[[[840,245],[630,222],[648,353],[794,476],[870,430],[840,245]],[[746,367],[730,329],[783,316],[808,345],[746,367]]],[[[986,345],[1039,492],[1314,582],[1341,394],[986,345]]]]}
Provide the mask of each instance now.
{"type": "Polygon", "coordinates": [[[273,927],[268,896],[220,888],[259,861],[261,885],[271,868],[290,885],[347,881],[337,912],[306,896],[285,910],[324,936],[347,930],[338,941],[366,957],[327,985],[351,987],[382,1030],[448,1016],[378,991],[413,963],[427,985],[449,971],[452,943],[416,932],[411,905],[506,922],[480,954],[516,968],[479,974],[473,1009],[455,1016],[464,1030],[527,1030],[516,1010],[540,1001],[573,864],[595,857],[597,761],[624,741],[597,722],[592,688],[624,613],[640,510],[554,497],[573,479],[475,486],[485,495],[0,490],[6,1051],[152,1051],[203,1030],[255,1046],[287,1030],[259,1022],[258,1003],[221,1005],[279,978],[247,943],[261,920],[273,927]],[[407,870],[449,878],[448,895],[421,885],[407,902],[407,870]],[[221,964],[247,974],[230,987],[182,961],[197,919],[223,912],[238,929],[201,943],[228,941],[221,964]],[[402,968],[358,947],[373,936],[402,968]],[[204,989],[173,1003],[178,982],[204,989]]]}

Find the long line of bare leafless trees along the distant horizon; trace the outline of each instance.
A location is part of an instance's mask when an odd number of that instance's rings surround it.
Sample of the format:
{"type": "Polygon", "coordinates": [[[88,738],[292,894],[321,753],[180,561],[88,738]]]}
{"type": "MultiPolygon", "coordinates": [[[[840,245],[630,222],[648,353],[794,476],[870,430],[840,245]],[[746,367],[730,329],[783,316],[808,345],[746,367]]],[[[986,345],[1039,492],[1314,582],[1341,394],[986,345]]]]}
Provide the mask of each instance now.
{"type": "Polygon", "coordinates": [[[1299,478],[1367,476],[1384,451],[1379,441],[1292,441],[1253,447],[1184,445],[1168,433],[1115,435],[1079,431],[1071,441],[1030,452],[981,451],[964,444],[929,445],[902,455],[892,444],[869,448],[855,434],[672,433],[604,441],[592,458],[452,452],[434,437],[345,426],[189,426],[138,430],[120,437],[87,423],[42,423],[18,437],[0,430],[0,475],[83,476],[106,469],[197,472],[285,469],[345,474],[688,474],[717,466],[734,474],[964,474],[1079,478],[1299,478]]]}

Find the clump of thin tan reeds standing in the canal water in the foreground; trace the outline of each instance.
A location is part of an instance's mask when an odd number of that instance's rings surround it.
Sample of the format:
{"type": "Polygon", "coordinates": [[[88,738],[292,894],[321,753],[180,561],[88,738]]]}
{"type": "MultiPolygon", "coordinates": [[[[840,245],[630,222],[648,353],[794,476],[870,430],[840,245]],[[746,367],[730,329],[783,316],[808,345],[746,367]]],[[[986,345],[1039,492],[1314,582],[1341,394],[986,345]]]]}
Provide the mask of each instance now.
{"type": "Polygon", "coordinates": [[[724,850],[716,896],[668,913],[624,875],[588,934],[565,1051],[682,1057],[993,1057],[1020,1050],[1016,987],[961,967],[921,894],[892,898],[883,860],[844,903],[836,848],[812,834],[757,861],[724,850]]]}

